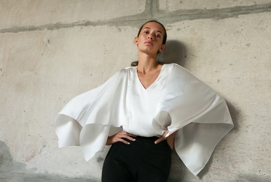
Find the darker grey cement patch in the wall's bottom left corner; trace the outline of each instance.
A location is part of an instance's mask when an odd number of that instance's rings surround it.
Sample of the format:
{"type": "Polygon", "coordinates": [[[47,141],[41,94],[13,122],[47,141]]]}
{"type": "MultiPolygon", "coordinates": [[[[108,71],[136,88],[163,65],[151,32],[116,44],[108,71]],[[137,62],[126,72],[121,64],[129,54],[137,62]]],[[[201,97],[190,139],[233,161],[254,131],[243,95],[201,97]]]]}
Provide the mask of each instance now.
{"type": "Polygon", "coordinates": [[[25,163],[15,162],[10,153],[10,148],[0,140],[0,181],[20,182],[45,182],[45,181],[67,181],[67,182],[97,182],[100,180],[91,177],[71,178],[57,174],[36,173],[37,168],[26,169],[25,163]]]}

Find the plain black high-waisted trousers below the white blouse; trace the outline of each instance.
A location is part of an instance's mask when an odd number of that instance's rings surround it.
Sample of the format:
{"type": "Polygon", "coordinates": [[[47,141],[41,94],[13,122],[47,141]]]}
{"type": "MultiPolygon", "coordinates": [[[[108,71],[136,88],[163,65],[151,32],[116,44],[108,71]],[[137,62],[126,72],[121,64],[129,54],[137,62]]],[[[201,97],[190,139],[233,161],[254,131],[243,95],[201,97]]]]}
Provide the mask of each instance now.
{"type": "MultiPolygon", "coordinates": [[[[158,137],[133,137],[129,145],[117,142],[103,163],[102,182],[166,182],[171,167],[172,150],[158,137]]],[[[126,140],[126,139],[125,139],[126,140]]]]}

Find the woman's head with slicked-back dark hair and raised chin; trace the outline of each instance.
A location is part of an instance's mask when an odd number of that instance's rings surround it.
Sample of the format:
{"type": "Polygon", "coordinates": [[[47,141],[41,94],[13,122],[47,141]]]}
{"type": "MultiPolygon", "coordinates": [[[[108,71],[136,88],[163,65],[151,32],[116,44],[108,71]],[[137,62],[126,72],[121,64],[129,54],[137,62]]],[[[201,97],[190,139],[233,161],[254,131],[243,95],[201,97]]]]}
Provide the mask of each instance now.
{"type": "Polygon", "coordinates": [[[138,46],[139,52],[151,55],[157,55],[157,52],[163,52],[166,45],[163,44],[164,36],[163,27],[156,22],[146,23],[134,43],[138,46]]]}

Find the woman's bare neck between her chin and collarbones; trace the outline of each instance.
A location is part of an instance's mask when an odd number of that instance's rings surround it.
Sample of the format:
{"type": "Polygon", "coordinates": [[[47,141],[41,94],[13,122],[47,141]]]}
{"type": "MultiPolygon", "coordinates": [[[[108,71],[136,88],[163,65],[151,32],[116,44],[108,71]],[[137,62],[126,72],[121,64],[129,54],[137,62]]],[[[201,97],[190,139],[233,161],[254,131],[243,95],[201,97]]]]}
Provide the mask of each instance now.
{"type": "Polygon", "coordinates": [[[162,65],[157,63],[156,58],[156,55],[152,56],[148,54],[139,54],[137,72],[145,74],[148,71],[160,68],[162,65]]]}

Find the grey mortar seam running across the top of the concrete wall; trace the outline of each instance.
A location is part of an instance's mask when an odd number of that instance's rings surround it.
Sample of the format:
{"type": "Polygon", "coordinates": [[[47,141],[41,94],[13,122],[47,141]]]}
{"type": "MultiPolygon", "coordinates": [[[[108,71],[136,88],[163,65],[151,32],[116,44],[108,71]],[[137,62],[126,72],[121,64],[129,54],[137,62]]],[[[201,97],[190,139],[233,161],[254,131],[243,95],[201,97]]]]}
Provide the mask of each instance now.
{"type": "Polygon", "coordinates": [[[131,26],[140,27],[140,25],[146,22],[148,19],[159,19],[161,23],[171,24],[185,20],[195,20],[195,19],[226,19],[237,17],[242,14],[251,13],[263,13],[271,12],[271,2],[266,4],[255,4],[251,6],[233,6],[227,8],[217,8],[217,9],[191,9],[191,10],[159,10],[159,4],[156,0],[147,0],[145,4],[145,9],[140,14],[123,16],[119,18],[108,19],[105,21],[80,21],[73,23],[55,23],[40,26],[21,26],[21,27],[11,27],[0,30],[0,33],[18,33],[23,31],[36,31],[36,30],[58,30],[60,28],[72,28],[81,26],[131,26]],[[174,18],[172,18],[174,17],[174,18]]]}

